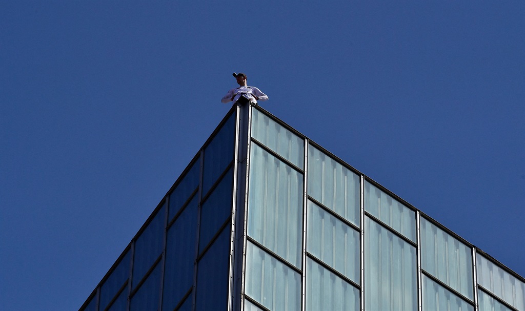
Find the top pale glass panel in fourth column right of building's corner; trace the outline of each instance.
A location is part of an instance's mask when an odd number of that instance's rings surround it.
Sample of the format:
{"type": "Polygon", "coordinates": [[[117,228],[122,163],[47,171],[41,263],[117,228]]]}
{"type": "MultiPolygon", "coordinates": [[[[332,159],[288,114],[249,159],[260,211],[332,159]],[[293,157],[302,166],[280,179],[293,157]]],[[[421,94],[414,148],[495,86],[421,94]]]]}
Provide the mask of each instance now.
{"type": "Polygon", "coordinates": [[[421,266],[439,281],[474,300],[472,250],[421,218],[421,266]]]}

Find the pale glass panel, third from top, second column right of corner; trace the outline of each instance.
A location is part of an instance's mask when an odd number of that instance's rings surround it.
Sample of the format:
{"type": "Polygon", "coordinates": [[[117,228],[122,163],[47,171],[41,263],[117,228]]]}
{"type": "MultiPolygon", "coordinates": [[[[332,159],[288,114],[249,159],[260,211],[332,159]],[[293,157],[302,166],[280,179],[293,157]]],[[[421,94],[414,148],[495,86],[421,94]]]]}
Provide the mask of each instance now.
{"type": "Polygon", "coordinates": [[[325,269],[317,262],[306,261],[306,309],[309,311],[360,310],[359,289],[325,269]]]}

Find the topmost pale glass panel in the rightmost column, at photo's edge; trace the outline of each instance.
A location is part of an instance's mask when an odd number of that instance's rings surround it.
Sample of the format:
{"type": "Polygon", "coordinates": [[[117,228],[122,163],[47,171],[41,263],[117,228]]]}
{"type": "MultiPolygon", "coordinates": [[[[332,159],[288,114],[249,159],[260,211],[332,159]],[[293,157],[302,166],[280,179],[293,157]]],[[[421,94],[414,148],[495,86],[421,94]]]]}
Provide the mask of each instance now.
{"type": "Polygon", "coordinates": [[[479,285],[514,308],[525,311],[525,283],[480,254],[476,255],[476,268],[479,285]]]}

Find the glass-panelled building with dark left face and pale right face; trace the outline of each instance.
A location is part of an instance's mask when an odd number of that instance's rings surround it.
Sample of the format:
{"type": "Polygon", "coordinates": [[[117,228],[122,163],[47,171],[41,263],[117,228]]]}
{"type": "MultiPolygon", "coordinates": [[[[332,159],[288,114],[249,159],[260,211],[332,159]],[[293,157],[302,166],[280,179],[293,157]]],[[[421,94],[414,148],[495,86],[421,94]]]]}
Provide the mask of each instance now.
{"type": "Polygon", "coordinates": [[[82,311],[525,311],[525,279],[258,106],[233,105],[82,311]]]}

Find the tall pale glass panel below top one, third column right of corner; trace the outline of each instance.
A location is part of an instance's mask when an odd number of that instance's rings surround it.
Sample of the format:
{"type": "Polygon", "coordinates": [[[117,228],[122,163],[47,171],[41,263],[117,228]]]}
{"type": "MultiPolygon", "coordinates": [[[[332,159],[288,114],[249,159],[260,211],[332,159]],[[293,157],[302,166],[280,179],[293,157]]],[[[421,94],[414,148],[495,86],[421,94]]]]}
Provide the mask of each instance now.
{"type": "Polygon", "coordinates": [[[416,249],[365,217],[366,310],[417,309],[416,249]]]}

